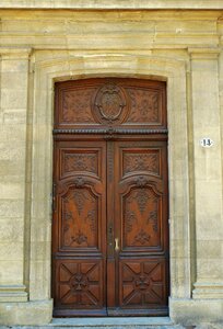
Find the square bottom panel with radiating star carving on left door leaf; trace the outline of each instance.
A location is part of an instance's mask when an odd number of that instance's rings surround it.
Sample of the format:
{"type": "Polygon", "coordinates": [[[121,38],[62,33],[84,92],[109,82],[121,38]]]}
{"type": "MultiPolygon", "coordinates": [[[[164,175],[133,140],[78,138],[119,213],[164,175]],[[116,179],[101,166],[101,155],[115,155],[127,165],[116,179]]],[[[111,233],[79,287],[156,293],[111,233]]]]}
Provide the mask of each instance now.
{"type": "Polygon", "coordinates": [[[95,309],[103,307],[104,277],[102,261],[59,260],[56,298],[60,308],[95,309]]]}

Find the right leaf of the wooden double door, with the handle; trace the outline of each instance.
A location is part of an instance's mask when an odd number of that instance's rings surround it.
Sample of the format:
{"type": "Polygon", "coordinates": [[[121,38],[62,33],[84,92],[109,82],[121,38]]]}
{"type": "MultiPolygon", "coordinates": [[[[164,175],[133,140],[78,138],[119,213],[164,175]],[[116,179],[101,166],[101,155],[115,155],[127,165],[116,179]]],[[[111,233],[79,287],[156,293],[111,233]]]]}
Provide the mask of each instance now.
{"type": "Polygon", "coordinates": [[[168,297],[166,143],[117,141],[115,168],[117,314],[161,311],[168,297]]]}

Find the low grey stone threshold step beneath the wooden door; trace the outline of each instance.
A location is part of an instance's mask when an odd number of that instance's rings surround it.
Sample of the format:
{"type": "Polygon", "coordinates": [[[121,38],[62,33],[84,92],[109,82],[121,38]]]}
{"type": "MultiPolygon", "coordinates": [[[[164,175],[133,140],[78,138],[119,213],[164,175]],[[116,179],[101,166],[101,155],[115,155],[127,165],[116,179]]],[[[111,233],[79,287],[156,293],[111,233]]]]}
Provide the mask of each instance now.
{"type": "Polygon", "coordinates": [[[105,317],[105,318],[54,318],[51,327],[73,327],[73,328],[84,328],[84,327],[114,327],[114,328],[125,328],[125,327],[163,327],[167,326],[174,328],[174,322],[169,317],[105,317]]]}

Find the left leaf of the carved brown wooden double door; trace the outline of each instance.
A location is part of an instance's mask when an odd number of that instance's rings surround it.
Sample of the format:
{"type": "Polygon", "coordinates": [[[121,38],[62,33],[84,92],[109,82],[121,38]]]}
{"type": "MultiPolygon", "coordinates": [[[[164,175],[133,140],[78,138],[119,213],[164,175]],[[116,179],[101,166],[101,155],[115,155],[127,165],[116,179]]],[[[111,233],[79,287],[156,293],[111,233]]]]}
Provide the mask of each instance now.
{"type": "Polygon", "coordinates": [[[105,315],[106,143],[55,144],[55,316],[105,315]]]}

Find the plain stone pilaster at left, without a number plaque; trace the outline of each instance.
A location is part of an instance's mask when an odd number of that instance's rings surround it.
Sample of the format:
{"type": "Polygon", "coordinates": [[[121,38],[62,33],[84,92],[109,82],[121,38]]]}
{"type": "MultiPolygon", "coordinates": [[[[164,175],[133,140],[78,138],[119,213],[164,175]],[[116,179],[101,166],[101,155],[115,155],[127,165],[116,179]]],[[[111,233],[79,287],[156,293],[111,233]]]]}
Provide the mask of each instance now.
{"type": "Polygon", "coordinates": [[[0,302],[25,302],[28,48],[0,48],[0,302]]]}

